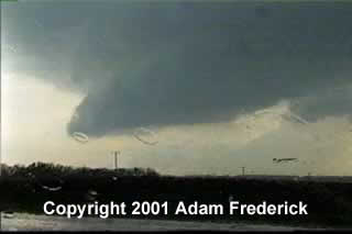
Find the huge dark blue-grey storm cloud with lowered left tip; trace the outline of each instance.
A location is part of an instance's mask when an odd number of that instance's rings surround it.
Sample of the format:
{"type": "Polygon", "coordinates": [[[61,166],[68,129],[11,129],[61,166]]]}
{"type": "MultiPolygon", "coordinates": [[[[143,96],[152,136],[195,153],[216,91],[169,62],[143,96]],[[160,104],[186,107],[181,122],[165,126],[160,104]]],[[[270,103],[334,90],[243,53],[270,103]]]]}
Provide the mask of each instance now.
{"type": "Polygon", "coordinates": [[[227,121],[242,109],[351,83],[349,3],[65,3],[10,11],[7,40],[20,52],[8,69],[88,91],[69,132],[101,136],[227,121]]]}

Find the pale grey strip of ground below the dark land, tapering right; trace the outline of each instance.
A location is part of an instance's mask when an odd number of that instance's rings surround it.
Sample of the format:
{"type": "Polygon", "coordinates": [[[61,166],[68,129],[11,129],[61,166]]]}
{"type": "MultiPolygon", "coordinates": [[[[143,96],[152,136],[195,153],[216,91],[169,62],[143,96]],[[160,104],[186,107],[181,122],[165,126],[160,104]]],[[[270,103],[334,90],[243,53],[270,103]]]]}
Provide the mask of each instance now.
{"type": "Polygon", "coordinates": [[[188,222],[84,218],[66,219],[61,216],[34,215],[14,213],[13,218],[1,219],[2,231],[182,231],[182,230],[211,230],[211,231],[293,231],[307,230],[278,225],[251,225],[238,222],[188,222]]]}

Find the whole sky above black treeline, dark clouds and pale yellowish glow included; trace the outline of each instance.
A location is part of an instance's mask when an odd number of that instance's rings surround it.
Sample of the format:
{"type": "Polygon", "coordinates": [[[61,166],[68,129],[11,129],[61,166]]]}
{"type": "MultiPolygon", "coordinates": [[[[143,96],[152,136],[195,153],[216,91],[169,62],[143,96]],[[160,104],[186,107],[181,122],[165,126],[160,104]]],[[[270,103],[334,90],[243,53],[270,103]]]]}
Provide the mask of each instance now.
{"type": "Polygon", "coordinates": [[[3,163],[352,175],[352,3],[94,2],[1,3],[3,163]]]}

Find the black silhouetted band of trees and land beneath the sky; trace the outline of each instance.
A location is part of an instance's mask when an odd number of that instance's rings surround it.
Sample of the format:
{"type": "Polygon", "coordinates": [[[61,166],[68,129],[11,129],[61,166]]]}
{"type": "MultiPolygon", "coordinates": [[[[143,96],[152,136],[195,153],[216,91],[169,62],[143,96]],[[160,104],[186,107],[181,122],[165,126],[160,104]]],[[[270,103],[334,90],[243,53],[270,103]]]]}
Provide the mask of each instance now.
{"type": "MultiPolygon", "coordinates": [[[[43,204],[125,202],[128,214],[133,201],[168,201],[168,215],[138,219],[178,219],[211,221],[249,221],[345,227],[352,225],[352,183],[319,181],[310,177],[245,177],[245,176],[162,176],[151,168],[68,167],[34,163],[29,166],[1,165],[0,209],[43,213],[43,204]],[[241,203],[308,204],[308,215],[230,215],[229,198],[241,203]],[[179,201],[223,204],[223,215],[174,215],[179,201]]],[[[136,216],[133,216],[136,219],[136,216]]]]}

